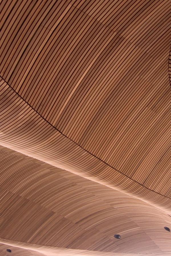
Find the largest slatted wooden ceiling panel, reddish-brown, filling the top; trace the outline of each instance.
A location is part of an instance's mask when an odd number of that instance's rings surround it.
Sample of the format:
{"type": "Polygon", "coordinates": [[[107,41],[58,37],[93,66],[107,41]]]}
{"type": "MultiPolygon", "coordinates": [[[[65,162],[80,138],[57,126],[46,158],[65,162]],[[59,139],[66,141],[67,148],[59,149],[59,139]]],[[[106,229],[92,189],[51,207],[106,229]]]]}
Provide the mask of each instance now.
{"type": "Polygon", "coordinates": [[[2,3],[1,77],[86,151],[171,197],[170,1],[2,3]]]}

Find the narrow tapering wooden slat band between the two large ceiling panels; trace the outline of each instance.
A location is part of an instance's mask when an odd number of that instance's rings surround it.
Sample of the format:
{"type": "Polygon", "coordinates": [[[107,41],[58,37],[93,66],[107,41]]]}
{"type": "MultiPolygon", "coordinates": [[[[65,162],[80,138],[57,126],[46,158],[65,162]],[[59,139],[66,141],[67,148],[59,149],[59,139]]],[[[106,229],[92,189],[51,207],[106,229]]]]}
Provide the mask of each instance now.
{"type": "MultiPolygon", "coordinates": [[[[0,144],[152,203],[170,213],[169,197],[130,179],[43,119],[1,79],[0,144]]],[[[166,183],[166,186],[169,183],[166,183]]]]}

